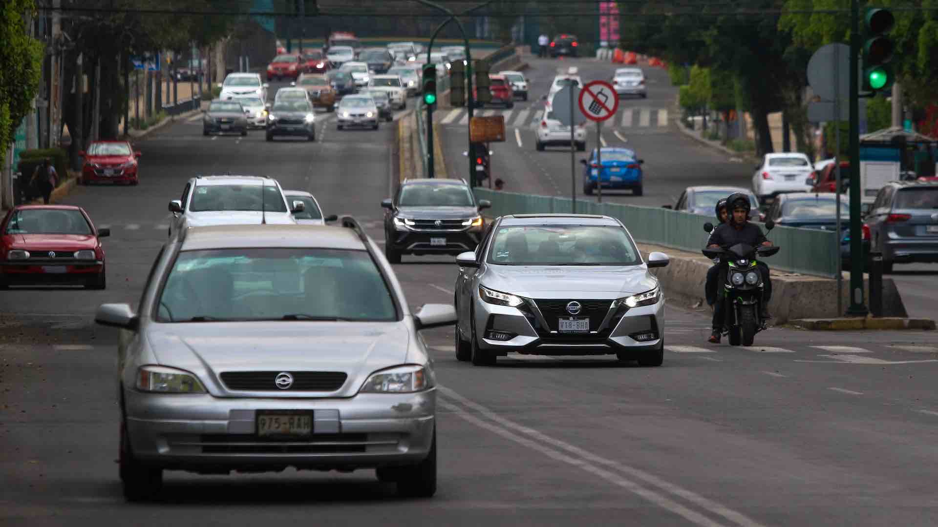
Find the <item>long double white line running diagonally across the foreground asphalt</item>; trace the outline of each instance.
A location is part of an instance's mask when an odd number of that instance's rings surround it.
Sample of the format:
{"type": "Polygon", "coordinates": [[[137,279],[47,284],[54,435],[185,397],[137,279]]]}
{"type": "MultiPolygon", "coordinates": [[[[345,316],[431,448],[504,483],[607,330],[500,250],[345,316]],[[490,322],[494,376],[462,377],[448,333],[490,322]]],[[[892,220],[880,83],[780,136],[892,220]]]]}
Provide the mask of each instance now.
{"type": "Polygon", "coordinates": [[[489,410],[488,408],[480,404],[477,404],[476,402],[473,402],[469,399],[462,397],[460,394],[454,392],[453,390],[447,388],[446,386],[439,386],[438,389],[441,392],[441,394],[444,395],[446,398],[456,399],[463,406],[470,408],[472,410],[475,410],[476,412],[484,415],[485,417],[487,417],[488,419],[490,419],[496,424],[483,421],[477,416],[465,412],[460,407],[446,400],[442,401],[442,405],[447,410],[454,412],[455,414],[459,415],[462,419],[470,423],[473,423],[477,425],[478,427],[489,429],[492,432],[502,437],[505,437],[511,441],[522,444],[524,446],[534,448],[540,451],[541,453],[551,457],[552,459],[557,459],[557,460],[569,463],[573,466],[580,467],[583,470],[591,474],[597,474],[600,477],[606,479],[607,481],[611,481],[613,482],[613,484],[619,487],[628,489],[629,491],[634,492],[635,494],[645,498],[646,500],[654,504],[658,504],[658,506],[665,508],[675,514],[683,516],[684,518],[698,525],[717,526],[719,525],[719,523],[713,521],[712,519],[708,519],[704,517],[702,514],[696,511],[689,510],[687,507],[685,507],[682,504],[673,502],[670,498],[658,493],[655,490],[646,489],[642,485],[635,483],[634,481],[630,481],[617,474],[613,474],[597,465],[605,465],[606,467],[610,469],[616,470],[620,473],[627,474],[636,479],[640,479],[644,483],[650,486],[657,487],[659,490],[663,490],[664,492],[670,492],[674,496],[683,498],[684,500],[687,500],[688,502],[692,504],[696,504],[713,514],[719,515],[725,519],[729,519],[730,521],[733,521],[734,523],[737,523],[739,525],[742,525],[745,527],[757,527],[761,525],[754,519],[750,519],[744,516],[743,514],[726,507],[723,504],[719,504],[717,502],[709,500],[691,490],[678,487],[677,485],[674,485],[673,483],[670,483],[668,481],[665,481],[659,478],[657,475],[649,474],[647,472],[644,472],[641,469],[637,469],[637,468],[625,465],[613,459],[602,458],[596,454],[593,454],[592,452],[583,450],[579,446],[574,446],[573,444],[568,444],[559,439],[554,439],[540,431],[537,431],[536,429],[531,429],[531,428],[519,425],[518,423],[510,421],[507,418],[502,417],[499,414],[495,414],[494,412],[492,412],[492,410],[489,410]],[[515,432],[520,432],[526,436],[533,438],[533,440],[524,438],[515,432]],[[566,450],[568,454],[565,454],[564,452],[561,452],[560,450],[566,450]]]}

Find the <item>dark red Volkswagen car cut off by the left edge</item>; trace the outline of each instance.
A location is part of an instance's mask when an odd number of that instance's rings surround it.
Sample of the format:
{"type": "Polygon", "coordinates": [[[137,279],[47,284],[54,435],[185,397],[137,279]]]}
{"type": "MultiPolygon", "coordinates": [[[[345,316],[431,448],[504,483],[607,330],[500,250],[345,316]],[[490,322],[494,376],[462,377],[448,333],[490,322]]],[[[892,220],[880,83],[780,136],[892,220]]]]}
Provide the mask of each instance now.
{"type": "Polygon", "coordinates": [[[10,285],[83,285],[104,289],[104,248],[82,207],[19,205],[0,224],[0,289],[10,285]]]}

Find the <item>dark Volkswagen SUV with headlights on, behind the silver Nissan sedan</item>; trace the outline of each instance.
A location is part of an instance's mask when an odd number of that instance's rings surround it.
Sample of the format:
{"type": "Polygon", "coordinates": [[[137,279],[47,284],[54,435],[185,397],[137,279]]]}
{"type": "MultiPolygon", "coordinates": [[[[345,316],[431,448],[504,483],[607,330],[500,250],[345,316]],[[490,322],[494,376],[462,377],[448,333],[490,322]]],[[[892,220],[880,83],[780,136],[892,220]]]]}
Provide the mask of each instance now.
{"type": "Polygon", "coordinates": [[[405,179],[397,195],[381,202],[385,211],[385,255],[392,264],[401,254],[459,254],[475,250],[482,239],[482,209],[472,189],[458,179],[405,179]]]}

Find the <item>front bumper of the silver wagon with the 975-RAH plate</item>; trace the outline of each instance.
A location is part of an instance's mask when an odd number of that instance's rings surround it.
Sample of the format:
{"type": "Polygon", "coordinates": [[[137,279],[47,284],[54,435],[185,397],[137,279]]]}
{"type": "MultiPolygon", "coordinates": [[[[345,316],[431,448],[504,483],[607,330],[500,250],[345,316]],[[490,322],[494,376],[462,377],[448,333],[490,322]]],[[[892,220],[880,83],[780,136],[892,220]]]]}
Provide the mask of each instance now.
{"type": "Polygon", "coordinates": [[[215,471],[400,466],[430,453],[436,392],[351,399],[216,398],[124,390],[134,456],[165,469],[215,471]],[[311,412],[312,433],[257,435],[258,411],[311,412]]]}

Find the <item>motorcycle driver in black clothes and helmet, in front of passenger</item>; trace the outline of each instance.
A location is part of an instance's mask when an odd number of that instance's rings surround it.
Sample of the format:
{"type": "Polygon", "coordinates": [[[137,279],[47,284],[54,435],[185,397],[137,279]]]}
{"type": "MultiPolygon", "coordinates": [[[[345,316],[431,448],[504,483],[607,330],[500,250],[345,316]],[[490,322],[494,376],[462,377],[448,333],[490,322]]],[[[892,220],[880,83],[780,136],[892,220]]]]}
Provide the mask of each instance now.
{"type": "MultiPolygon", "coordinates": [[[[749,196],[736,192],[726,199],[726,203],[727,211],[730,215],[729,221],[719,225],[719,227],[710,233],[710,239],[707,241],[708,248],[730,248],[740,243],[753,247],[758,245],[772,245],[772,242],[765,238],[762,229],[760,229],[758,225],[749,222],[749,212],[752,208],[751,203],[749,203],[749,196]]],[[[768,267],[762,262],[759,262],[757,267],[759,273],[762,275],[764,283],[763,301],[760,304],[760,317],[763,320],[768,320],[771,318],[771,315],[768,313],[768,301],[772,297],[772,282],[769,279],[768,267]]],[[[722,283],[725,279],[726,271],[720,266],[718,283],[722,283]]],[[[719,337],[723,327],[722,308],[722,302],[714,304],[713,332],[708,339],[708,341],[712,343],[719,343],[719,337]]]]}

